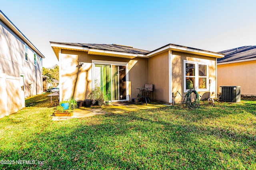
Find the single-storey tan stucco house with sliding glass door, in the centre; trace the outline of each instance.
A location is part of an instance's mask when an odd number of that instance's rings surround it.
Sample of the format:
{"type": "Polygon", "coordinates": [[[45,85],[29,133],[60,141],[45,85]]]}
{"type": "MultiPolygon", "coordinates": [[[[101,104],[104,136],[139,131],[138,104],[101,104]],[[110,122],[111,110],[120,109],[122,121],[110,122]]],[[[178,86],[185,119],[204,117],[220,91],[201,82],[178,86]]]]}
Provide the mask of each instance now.
{"type": "MultiPolygon", "coordinates": [[[[112,102],[131,101],[144,84],[153,84],[154,100],[166,103],[172,103],[172,92],[184,96],[191,86],[202,98],[208,98],[209,91],[216,97],[216,59],[224,57],[174,44],[154,51],[117,44],[50,44],[59,61],[60,101],[86,99],[94,80],[112,102]]],[[[178,95],[175,102],[181,101],[178,95]]]]}

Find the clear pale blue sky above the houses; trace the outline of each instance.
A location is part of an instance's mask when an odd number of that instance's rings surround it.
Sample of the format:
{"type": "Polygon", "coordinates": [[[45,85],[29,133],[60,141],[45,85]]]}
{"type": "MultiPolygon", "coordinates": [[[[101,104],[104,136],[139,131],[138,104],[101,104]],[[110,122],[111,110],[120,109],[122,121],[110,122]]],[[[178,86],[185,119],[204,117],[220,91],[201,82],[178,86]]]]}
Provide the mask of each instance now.
{"type": "Polygon", "coordinates": [[[154,50],[166,44],[208,51],[256,45],[255,0],[0,0],[0,10],[46,57],[49,41],[122,44],[154,50]]]}

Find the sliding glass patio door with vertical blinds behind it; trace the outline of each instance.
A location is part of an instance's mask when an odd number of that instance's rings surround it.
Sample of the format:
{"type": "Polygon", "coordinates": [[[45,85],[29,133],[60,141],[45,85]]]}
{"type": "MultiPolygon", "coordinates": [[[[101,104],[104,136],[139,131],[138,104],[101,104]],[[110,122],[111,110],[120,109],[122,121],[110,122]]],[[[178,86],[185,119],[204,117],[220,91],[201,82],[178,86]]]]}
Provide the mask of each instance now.
{"type": "Polygon", "coordinates": [[[94,80],[100,84],[105,98],[109,101],[128,100],[126,65],[105,63],[92,63],[94,80]]]}

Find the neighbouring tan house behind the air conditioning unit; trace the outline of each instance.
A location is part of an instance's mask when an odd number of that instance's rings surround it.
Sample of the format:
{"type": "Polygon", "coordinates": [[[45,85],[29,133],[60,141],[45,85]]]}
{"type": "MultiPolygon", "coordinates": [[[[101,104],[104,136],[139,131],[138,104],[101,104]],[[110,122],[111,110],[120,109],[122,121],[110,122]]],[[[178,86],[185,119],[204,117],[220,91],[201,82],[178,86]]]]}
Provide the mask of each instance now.
{"type": "Polygon", "coordinates": [[[241,86],[241,94],[256,96],[256,46],[220,51],[217,60],[218,86],[241,86]]]}

